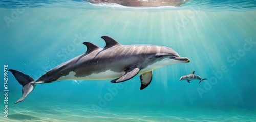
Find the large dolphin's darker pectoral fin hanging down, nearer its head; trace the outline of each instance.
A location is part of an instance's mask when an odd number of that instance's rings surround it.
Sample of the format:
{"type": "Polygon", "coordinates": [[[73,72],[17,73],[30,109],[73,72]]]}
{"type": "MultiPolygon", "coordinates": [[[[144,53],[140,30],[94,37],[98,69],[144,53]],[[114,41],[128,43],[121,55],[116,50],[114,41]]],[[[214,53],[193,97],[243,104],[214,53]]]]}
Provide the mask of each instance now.
{"type": "Polygon", "coordinates": [[[140,86],[140,90],[146,88],[148,85],[150,85],[150,82],[152,80],[152,71],[146,72],[144,74],[140,75],[140,82],[141,82],[141,86],[140,86]]]}

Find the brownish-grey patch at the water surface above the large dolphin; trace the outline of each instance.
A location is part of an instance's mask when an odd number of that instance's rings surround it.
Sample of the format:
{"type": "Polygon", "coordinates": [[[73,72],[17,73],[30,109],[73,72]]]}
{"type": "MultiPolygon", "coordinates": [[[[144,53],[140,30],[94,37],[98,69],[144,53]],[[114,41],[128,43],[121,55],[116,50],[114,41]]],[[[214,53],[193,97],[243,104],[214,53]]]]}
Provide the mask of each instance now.
{"type": "Polygon", "coordinates": [[[189,0],[86,0],[92,4],[115,3],[128,7],[161,7],[175,6],[180,7],[189,0]]]}

